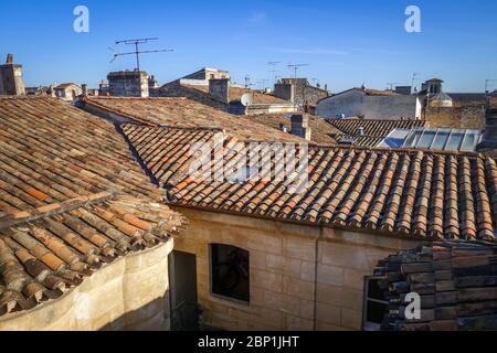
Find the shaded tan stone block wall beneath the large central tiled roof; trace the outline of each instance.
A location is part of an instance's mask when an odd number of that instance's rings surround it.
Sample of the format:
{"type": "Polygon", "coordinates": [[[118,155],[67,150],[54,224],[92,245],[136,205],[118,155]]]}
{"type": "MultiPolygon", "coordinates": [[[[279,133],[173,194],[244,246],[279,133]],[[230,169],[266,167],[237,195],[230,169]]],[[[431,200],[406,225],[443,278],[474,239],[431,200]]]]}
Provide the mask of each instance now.
{"type": "Polygon", "coordinates": [[[176,208],[190,221],[175,249],[197,255],[202,323],[225,330],[360,330],[363,276],[379,259],[416,244],[176,208]],[[210,244],[250,252],[248,304],[211,293],[210,244]]]}

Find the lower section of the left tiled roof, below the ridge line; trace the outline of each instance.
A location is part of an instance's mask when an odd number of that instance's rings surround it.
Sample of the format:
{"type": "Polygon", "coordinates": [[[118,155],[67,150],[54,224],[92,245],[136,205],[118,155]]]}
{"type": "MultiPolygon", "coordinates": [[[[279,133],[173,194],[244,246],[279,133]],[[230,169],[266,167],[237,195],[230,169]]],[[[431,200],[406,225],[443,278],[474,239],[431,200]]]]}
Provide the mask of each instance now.
{"type": "Polygon", "coordinates": [[[110,193],[0,218],[0,315],[61,297],[104,264],[167,242],[183,223],[166,205],[110,193]]]}

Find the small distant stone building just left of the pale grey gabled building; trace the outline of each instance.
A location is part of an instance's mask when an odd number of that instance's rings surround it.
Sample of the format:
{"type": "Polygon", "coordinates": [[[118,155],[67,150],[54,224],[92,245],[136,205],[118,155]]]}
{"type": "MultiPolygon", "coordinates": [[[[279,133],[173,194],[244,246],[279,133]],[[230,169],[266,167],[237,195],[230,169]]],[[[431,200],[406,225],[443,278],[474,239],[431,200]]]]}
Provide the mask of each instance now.
{"type": "Polygon", "coordinates": [[[327,89],[310,85],[307,78],[282,78],[274,85],[273,94],[302,107],[316,106],[320,99],[329,96],[327,89]]]}

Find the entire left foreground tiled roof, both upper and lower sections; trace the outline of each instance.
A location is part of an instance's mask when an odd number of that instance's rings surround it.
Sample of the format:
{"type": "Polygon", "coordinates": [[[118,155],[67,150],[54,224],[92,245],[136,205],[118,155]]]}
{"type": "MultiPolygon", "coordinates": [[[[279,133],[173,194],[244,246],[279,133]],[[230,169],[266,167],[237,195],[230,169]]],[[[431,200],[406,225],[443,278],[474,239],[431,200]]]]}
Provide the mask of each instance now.
{"type": "Polygon", "coordinates": [[[0,98],[0,314],[166,240],[179,215],[109,121],[55,98],[0,98]]]}

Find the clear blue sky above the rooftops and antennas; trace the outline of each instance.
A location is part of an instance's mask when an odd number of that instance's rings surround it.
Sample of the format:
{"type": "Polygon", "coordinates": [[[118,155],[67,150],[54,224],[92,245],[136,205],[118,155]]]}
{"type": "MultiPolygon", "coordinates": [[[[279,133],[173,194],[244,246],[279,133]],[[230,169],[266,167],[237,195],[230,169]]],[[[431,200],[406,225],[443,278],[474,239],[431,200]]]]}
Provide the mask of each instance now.
{"type": "MultiPolygon", "coordinates": [[[[299,76],[334,92],[385,88],[437,76],[447,92],[483,92],[497,78],[497,1],[276,1],[276,0],[45,0],[0,1],[0,55],[14,54],[28,85],[89,83],[134,68],[116,40],[158,36],[144,50],[142,68],[161,84],[200,67],[229,69],[236,82],[269,79],[269,61],[289,76],[288,63],[306,63],[299,76]],[[73,9],[89,9],[89,33],[73,31],[73,9]],[[404,10],[416,4],[422,33],[406,33],[404,10]]],[[[494,85],[493,88],[497,88],[494,85]]]]}

